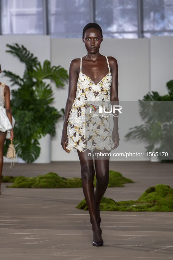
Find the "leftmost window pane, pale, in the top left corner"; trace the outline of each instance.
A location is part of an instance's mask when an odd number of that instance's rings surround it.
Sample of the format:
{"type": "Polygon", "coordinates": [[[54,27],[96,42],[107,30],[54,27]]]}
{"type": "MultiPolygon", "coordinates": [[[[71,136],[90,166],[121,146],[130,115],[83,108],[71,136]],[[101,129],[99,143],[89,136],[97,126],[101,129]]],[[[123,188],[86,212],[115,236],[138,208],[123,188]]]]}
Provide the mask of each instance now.
{"type": "Polygon", "coordinates": [[[1,0],[2,34],[43,34],[42,0],[1,0]]]}

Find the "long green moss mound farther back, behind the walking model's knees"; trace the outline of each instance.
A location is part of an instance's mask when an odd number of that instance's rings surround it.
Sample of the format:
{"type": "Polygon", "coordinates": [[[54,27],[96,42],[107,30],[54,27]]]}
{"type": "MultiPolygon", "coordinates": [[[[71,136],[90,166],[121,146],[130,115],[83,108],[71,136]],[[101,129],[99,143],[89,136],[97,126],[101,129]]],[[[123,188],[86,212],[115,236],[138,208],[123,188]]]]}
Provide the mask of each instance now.
{"type": "MultiPolygon", "coordinates": [[[[12,177],[12,176],[9,176],[12,177]]],[[[5,177],[3,177],[5,178],[5,177]]],[[[11,186],[7,188],[78,188],[82,187],[81,178],[62,178],[54,172],[37,177],[14,177],[15,180],[11,186]]],[[[5,181],[4,181],[5,182],[5,181]]],[[[8,178],[9,182],[9,178],[8,178]]],[[[108,187],[124,187],[123,183],[133,182],[131,179],[125,178],[120,172],[109,171],[108,187]]],[[[94,178],[94,187],[96,185],[96,177],[94,178]]]]}

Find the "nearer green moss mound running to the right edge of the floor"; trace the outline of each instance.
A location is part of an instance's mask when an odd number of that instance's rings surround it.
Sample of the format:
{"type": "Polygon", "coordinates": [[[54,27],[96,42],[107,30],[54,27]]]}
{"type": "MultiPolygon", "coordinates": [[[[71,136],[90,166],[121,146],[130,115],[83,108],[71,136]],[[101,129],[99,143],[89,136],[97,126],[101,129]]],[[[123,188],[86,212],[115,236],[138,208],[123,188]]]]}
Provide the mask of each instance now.
{"type": "MultiPolygon", "coordinates": [[[[76,208],[88,210],[85,199],[76,208]]],[[[101,211],[173,211],[173,189],[157,184],[147,189],[136,201],[118,201],[103,197],[101,211]]]]}

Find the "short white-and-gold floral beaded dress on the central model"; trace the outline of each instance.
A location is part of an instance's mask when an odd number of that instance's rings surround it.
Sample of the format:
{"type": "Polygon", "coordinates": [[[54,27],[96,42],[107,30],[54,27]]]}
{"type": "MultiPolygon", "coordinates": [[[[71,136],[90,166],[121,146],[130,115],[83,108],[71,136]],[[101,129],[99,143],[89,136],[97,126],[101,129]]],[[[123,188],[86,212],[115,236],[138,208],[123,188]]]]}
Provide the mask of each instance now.
{"type": "Polygon", "coordinates": [[[108,74],[95,84],[88,76],[82,73],[82,58],[80,58],[80,73],[77,82],[77,94],[71,107],[68,118],[68,144],[66,149],[69,151],[86,149],[112,150],[111,127],[109,117],[93,116],[98,115],[97,111],[91,111],[91,105],[98,108],[103,106],[103,102],[109,101],[112,76],[109,67],[108,74]]]}

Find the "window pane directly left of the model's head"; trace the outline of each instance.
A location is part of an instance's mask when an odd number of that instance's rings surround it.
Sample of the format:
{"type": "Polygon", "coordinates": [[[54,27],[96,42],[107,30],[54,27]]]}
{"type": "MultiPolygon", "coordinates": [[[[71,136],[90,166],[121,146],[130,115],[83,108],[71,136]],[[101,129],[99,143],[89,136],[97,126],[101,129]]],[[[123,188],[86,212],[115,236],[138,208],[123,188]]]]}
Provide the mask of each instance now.
{"type": "Polygon", "coordinates": [[[49,0],[53,37],[82,37],[90,22],[90,0],[49,0]]]}

